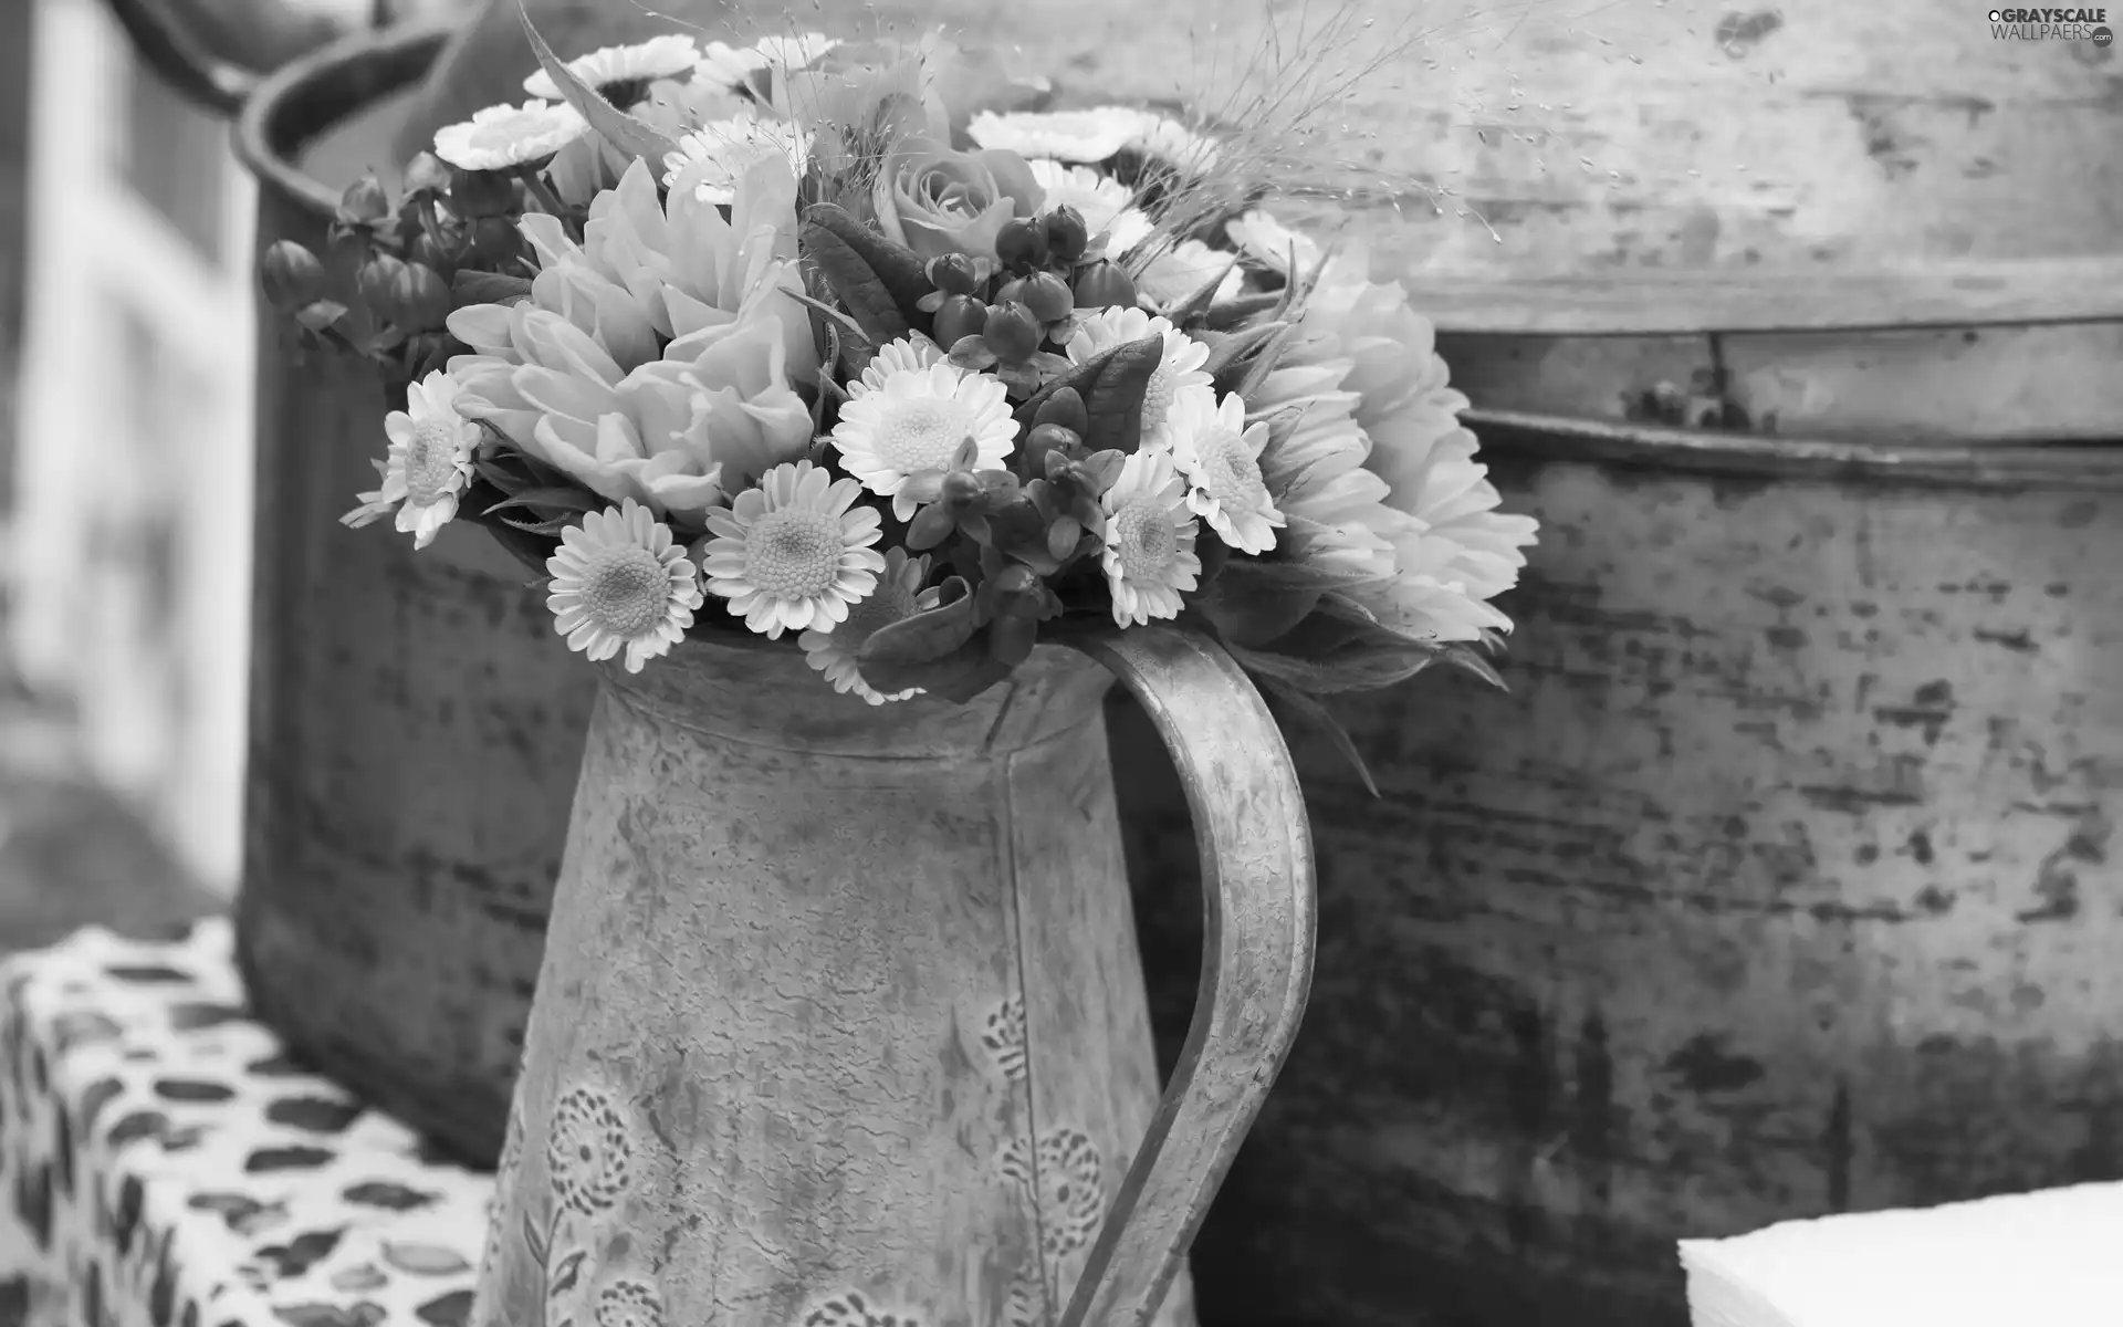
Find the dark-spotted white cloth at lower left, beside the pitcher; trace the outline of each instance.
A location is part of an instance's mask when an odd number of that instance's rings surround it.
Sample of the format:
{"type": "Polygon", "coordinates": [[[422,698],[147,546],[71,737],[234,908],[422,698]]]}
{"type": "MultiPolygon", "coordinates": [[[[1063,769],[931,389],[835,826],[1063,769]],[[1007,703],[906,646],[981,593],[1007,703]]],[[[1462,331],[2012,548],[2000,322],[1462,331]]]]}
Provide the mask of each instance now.
{"type": "Polygon", "coordinates": [[[452,1327],[493,1176],[291,1064],[227,919],[0,962],[0,1327],[452,1327]]]}

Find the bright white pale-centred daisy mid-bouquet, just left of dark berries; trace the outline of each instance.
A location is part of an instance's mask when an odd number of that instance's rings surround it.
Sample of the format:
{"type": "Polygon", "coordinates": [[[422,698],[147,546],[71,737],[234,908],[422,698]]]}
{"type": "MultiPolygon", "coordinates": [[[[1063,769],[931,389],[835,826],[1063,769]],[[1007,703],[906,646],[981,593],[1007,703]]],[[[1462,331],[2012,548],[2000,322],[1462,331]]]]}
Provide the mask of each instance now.
{"type": "Polygon", "coordinates": [[[909,520],[917,499],[904,493],[909,476],[949,469],[972,440],[977,469],[1000,469],[1017,442],[1008,389],[991,374],[964,374],[949,363],[885,374],[875,389],[841,406],[832,446],[847,473],[909,520]]]}

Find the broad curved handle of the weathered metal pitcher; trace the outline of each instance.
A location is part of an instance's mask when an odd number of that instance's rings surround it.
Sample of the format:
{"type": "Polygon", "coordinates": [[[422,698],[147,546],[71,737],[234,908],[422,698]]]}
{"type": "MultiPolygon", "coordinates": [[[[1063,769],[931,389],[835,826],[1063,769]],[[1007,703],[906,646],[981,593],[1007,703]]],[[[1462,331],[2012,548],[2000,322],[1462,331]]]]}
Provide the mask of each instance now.
{"type": "Polygon", "coordinates": [[[1187,1049],[1059,1321],[1142,1327],[1297,1040],[1312,987],[1312,830],[1282,730],[1221,645],[1176,626],[1070,643],[1149,711],[1202,856],[1202,985],[1187,1049]]]}

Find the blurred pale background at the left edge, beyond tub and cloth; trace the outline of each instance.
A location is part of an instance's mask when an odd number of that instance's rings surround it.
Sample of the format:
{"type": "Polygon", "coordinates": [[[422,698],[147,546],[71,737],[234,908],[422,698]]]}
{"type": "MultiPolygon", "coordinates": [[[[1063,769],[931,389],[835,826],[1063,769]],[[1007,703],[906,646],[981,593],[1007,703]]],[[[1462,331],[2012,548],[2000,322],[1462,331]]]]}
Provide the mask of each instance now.
{"type": "MultiPolygon", "coordinates": [[[[293,13],[236,49],[376,17],[293,13]]],[[[100,0],[0,4],[0,947],[236,885],[251,227],[227,123],[100,0]]]]}

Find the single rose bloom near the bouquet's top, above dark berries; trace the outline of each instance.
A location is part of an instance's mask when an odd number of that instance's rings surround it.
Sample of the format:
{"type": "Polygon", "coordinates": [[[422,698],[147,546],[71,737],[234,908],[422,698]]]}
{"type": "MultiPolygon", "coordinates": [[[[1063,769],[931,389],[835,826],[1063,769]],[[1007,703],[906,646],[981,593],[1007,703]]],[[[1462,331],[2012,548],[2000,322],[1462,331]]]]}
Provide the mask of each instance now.
{"type": "Polygon", "coordinates": [[[924,259],[964,253],[996,261],[996,236],[1034,217],[1047,191],[1017,153],[955,153],[909,138],[877,176],[877,229],[924,259]]]}

